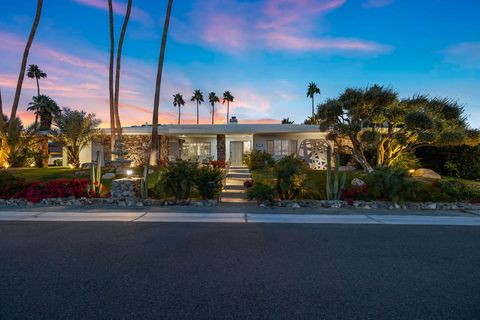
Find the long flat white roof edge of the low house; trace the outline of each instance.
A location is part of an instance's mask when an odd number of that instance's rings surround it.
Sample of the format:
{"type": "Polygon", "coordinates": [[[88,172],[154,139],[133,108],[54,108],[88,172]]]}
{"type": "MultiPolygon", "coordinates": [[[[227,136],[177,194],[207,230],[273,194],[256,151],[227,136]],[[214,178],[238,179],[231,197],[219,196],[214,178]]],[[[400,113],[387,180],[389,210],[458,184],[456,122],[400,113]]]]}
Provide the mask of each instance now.
{"type": "MultiPolygon", "coordinates": [[[[123,128],[124,134],[150,134],[152,126],[132,126],[123,128]]],[[[109,133],[110,129],[104,129],[109,133]]],[[[178,134],[258,134],[258,133],[311,133],[320,132],[318,125],[307,124],[180,124],[159,125],[158,133],[178,134]]]]}

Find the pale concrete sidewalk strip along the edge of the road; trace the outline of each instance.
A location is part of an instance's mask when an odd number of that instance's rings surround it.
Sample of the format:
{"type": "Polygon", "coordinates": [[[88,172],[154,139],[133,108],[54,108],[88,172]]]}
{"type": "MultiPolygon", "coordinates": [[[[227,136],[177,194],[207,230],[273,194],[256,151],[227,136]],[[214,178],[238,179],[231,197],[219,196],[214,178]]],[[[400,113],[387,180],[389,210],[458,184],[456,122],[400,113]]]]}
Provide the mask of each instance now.
{"type": "Polygon", "coordinates": [[[14,212],[0,211],[0,221],[62,222],[198,222],[198,223],[307,223],[480,226],[480,216],[426,216],[379,214],[265,214],[182,212],[14,212]]]}

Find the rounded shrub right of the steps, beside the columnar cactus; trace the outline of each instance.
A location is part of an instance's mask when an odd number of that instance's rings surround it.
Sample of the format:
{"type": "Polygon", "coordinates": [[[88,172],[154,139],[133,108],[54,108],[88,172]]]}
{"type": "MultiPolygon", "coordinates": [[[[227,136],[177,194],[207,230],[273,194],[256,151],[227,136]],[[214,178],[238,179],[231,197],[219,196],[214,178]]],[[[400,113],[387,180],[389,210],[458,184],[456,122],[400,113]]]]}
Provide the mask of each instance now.
{"type": "Polygon", "coordinates": [[[307,164],[294,155],[280,159],[274,166],[276,189],[282,200],[295,199],[305,187],[307,164]]]}

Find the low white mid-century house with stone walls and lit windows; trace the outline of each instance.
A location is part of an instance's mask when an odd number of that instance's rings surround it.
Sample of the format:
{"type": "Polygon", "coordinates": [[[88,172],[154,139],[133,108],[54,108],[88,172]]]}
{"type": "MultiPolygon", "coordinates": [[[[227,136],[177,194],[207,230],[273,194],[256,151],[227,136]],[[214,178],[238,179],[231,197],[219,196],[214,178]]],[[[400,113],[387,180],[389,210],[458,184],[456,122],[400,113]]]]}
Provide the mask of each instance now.
{"type": "MultiPolygon", "coordinates": [[[[123,128],[123,142],[132,165],[141,165],[149,150],[151,126],[123,128]]],[[[163,160],[225,160],[242,165],[245,153],[265,151],[275,159],[295,154],[312,169],[325,169],[327,133],[316,125],[304,124],[185,124],[160,125],[160,157],[163,160]]],[[[81,152],[81,162],[91,162],[97,151],[110,158],[109,129],[102,139],[81,152]]]]}

